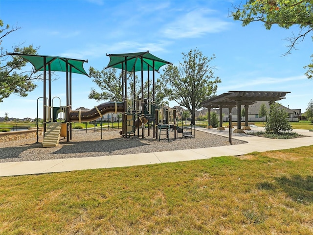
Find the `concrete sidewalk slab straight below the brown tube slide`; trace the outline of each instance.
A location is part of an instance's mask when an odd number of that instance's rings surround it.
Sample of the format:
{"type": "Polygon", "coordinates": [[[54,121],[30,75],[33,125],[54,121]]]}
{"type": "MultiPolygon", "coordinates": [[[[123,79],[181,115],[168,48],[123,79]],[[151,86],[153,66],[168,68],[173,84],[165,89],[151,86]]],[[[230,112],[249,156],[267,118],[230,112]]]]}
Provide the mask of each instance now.
{"type": "Polygon", "coordinates": [[[44,173],[65,172],[71,170],[87,170],[106,168],[111,156],[89,157],[89,158],[67,158],[63,162],[54,165],[44,173]]]}

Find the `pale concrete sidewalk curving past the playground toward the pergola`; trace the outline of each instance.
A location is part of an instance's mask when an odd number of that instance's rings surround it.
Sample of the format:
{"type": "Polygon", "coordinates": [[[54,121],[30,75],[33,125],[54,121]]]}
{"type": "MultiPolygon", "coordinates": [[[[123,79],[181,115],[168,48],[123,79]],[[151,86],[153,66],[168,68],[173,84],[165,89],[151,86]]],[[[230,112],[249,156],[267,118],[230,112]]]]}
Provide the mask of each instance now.
{"type": "MultiPolygon", "coordinates": [[[[216,129],[206,128],[197,129],[216,135],[222,135],[228,138],[228,130],[218,131],[216,129]]],[[[264,131],[264,128],[262,127],[255,127],[251,129],[251,131],[264,131]]],[[[273,140],[256,136],[249,136],[246,134],[232,133],[232,139],[246,141],[247,143],[211,148],[186,149],[179,151],[165,151],[88,158],[56,159],[46,161],[0,163],[0,177],[180,162],[209,159],[211,157],[220,156],[238,156],[254,151],[264,152],[268,150],[288,149],[301,146],[309,146],[313,144],[313,132],[310,132],[309,130],[293,131],[308,137],[290,140],[273,140]]]]}

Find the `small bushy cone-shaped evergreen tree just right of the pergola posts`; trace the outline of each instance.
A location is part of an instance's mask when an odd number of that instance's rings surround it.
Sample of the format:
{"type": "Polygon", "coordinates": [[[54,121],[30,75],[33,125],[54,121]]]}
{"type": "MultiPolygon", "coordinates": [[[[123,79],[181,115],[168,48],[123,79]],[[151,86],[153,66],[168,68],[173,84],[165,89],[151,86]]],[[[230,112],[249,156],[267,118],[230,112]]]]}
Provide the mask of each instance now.
{"type": "Polygon", "coordinates": [[[291,124],[288,121],[288,113],[281,108],[279,103],[272,103],[270,106],[268,122],[265,125],[267,133],[280,134],[281,132],[291,132],[291,124]]]}

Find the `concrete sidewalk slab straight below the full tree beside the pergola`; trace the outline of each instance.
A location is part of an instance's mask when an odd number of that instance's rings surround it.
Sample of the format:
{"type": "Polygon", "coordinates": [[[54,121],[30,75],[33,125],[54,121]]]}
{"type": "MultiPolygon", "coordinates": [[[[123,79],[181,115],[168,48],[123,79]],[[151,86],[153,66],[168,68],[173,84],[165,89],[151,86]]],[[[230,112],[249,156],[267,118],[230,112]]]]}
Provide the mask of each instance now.
{"type": "Polygon", "coordinates": [[[201,154],[194,152],[191,149],[156,152],[155,155],[161,163],[174,163],[207,158],[201,154]]]}

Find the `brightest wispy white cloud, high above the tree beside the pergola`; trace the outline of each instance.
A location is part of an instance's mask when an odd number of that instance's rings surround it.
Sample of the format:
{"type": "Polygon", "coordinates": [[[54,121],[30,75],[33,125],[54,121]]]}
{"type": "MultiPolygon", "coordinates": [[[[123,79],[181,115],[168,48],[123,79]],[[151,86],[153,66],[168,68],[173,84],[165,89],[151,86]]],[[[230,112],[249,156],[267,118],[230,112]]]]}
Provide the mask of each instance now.
{"type": "Polygon", "coordinates": [[[218,18],[209,17],[212,12],[208,9],[195,9],[176,21],[165,25],[161,33],[168,38],[197,38],[206,33],[217,33],[224,31],[230,24],[218,18]]]}

